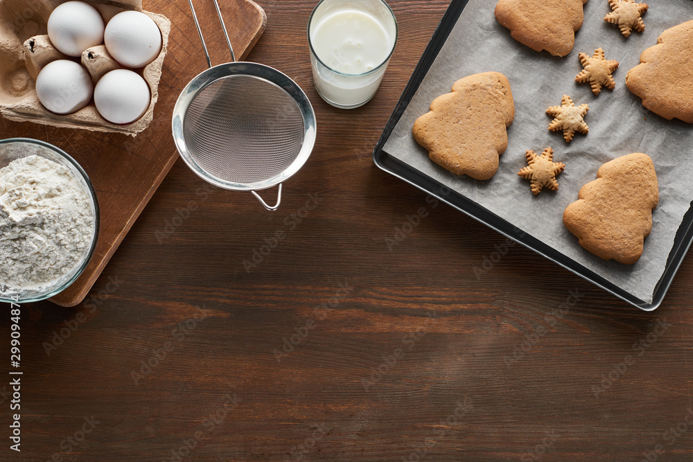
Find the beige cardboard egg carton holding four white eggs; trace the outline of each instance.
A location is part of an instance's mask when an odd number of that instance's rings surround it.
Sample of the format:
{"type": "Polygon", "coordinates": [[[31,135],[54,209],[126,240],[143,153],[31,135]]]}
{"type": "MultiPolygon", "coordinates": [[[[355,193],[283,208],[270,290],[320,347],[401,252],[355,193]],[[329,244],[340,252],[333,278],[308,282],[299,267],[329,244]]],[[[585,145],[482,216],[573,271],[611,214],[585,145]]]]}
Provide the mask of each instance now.
{"type": "MultiPolygon", "coordinates": [[[[166,57],[170,21],[162,15],[143,11],[141,0],[86,0],[85,3],[98,10],[104,24],[119,12],[136,10],[148,15],[159,26],[163,39],[161,53],[144,69],[132,69],[140,73],[148,83],[152,102],[139,120],[128,125],[106,121],[96,111],[93,99],[84,109],[60,116],[49,112],[40,103],[35,89],[36,76],[41,69],[49,62],[65,59],[46,35],[49,16],[60,3],[64,3],[64,0],[0,0],[0,114],[10,121],[82,128],[94,132],[118,132],[135,136],[145,130],[154,117],[154,106],[159,98],[159,80],[166,57]]],[[[91,74],[94,85],[109,71],[127,69],[115,62],[103,45],[85,51],[82,54],[82,64],[91,74]]]]}

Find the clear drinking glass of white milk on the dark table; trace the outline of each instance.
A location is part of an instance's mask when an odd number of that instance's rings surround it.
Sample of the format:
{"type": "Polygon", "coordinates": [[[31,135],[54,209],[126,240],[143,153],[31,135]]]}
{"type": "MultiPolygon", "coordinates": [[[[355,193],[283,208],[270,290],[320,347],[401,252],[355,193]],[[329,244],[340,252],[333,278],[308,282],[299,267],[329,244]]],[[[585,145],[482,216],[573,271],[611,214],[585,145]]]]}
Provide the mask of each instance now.
{"type": "Polygon", "coordinates": [[[308,21],[315,89],[341,109],[378,91],[397,43],[397,20],[383,0],[322,0],[308,21]]]}

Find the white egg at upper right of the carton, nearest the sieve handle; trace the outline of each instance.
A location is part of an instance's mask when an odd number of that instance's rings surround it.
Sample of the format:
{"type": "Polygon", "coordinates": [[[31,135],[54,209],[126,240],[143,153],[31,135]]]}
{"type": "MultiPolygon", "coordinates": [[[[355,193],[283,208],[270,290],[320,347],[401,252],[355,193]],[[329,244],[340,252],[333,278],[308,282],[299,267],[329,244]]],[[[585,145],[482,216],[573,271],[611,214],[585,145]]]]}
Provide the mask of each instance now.
{"type": "Polygon", "coordinates": [[[144,67],[161,53],[161,30],[139,11],[123,11],[108,21],[104,44],[114,60],[126,67],[144,67]]]}

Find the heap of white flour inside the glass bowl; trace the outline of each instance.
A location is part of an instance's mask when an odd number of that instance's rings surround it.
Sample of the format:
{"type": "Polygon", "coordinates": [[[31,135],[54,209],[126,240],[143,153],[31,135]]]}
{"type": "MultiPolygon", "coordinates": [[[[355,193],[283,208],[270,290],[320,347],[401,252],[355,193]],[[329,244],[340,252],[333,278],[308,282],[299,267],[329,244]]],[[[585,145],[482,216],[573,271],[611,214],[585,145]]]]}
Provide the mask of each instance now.
{"type": "Polygon", "coordinates": [[[0,170],[0,286],[49,285],[89,251],[94,214],[72,172],[38,156],[0,170]]]}

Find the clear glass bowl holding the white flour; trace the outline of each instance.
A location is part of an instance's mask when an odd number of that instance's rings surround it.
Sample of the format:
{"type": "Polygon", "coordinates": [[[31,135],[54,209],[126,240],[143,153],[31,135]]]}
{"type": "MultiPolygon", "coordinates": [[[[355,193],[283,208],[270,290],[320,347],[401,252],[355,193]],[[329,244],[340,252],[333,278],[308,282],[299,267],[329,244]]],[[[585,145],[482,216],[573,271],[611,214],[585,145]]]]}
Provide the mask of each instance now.
{"type": "Polygon", "coordinates": [[[67,289],[67,287],[80,277],[85,267],[87,267],[89,260],[91,260],[91,256],[94,255],[96,241],[98,240],[99,213],[96,191],[94,190],[94,186],[91,185],[87,173],[82,169],[80,164],[63,150],[44,141],[27,138],[0,140],[0,168],[5,168],[10,162],[16,159],[31,155],[43,157],[44,159],[48,159],[69,168],[73,177],[80,181],[85,194],[89,197],[91,211],[94,214],[94,233],[91,236],[91,245],[87,247],[88,250],[85,250],[80,263],[75,265],[71,271],[46,285],[31,289],[0,285],[0,302],[33,303],[35,301],[50,299],[52,296],[60,294],[60,292],[67,289]]]}

